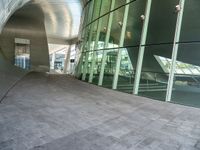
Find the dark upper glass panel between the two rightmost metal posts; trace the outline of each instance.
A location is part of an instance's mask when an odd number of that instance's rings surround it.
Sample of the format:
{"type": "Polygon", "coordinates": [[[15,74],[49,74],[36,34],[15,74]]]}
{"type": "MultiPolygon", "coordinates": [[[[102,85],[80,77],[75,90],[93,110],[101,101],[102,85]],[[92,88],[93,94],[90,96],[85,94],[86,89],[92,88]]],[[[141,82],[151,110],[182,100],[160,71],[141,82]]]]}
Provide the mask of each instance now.
{"type": "Polygon", "coordinates": [[[152,1],[147,44],[173,43],[177,20],[175,6],[177,4],[179,4],[179,0],[152,1]]]}

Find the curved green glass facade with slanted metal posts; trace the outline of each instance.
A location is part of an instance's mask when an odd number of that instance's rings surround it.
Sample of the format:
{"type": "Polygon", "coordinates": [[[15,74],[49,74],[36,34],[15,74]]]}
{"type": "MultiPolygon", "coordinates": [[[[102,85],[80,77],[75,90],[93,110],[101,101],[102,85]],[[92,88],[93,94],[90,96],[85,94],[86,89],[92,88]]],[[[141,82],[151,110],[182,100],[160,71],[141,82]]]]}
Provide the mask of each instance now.
{"type": "Polygon", "coordinates": [[[91,0],[83,11],[76,76],[200,107],[199,6],[197,0],[91,0]]]}

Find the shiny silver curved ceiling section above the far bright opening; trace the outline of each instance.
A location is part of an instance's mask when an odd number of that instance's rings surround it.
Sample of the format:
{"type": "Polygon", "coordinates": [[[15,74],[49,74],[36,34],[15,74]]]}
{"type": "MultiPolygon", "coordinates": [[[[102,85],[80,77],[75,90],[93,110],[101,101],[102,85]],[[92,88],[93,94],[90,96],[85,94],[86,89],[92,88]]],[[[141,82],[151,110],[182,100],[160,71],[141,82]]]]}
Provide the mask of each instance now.
{"type": "Polygon", "coordinates": [[[32,0],[29,5],[38,5],[43,10],[48,37],[77,36],[82,10],[80,0],[32,0]]]}

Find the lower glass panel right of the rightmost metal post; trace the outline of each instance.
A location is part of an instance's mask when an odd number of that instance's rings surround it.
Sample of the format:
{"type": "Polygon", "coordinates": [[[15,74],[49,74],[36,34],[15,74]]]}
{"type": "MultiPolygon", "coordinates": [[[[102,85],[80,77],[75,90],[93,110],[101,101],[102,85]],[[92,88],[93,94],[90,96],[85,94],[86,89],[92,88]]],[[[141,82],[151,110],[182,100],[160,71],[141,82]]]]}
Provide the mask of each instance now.
{"type": "Polygon", "coordinates": [[[200,107],[200,44],[180,44],[171,101],[200,107]],[[182,70],[182,72],[178,71],[182,70]]]}

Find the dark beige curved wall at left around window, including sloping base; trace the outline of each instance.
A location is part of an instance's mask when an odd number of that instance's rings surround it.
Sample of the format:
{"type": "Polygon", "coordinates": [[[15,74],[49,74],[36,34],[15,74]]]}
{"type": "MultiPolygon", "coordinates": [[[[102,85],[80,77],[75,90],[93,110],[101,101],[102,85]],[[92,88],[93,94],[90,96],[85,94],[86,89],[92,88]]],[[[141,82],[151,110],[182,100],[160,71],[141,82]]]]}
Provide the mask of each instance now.
{"type": "Polygon", "coordinates": [[[16,11],[0,34],[0,49],[1,99],[29,71],[49,71],[48,43],[42,10],[35,5],[25,5],[16,11]],[[24,12],[33,12],[35,15],[24,12]],[[15,38],[30,40],[30,70],[14,66],[15,38]]]}

